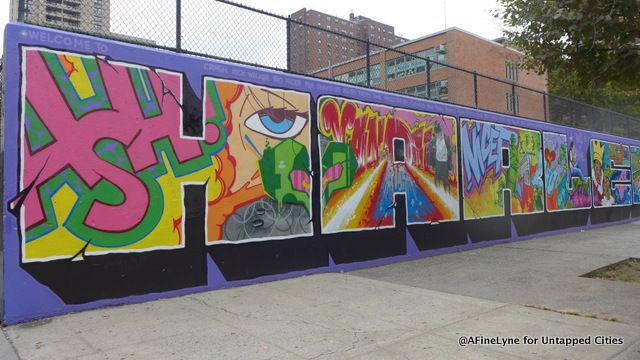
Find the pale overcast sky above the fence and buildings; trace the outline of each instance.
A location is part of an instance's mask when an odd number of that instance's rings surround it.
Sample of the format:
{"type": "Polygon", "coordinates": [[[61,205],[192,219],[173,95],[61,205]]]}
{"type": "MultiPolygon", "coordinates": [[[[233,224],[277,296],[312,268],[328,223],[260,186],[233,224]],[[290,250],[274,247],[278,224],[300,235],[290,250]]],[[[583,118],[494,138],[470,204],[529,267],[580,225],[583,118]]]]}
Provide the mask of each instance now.
{"type": "MultiPolygon", "coordinates": [[[[496,0],[236,1],[279,15],[288,15],[306,7],[346,19],[353,11],[355,15],[363,15],[394,26],[396,35],[409,39],[452,26],[488,39],[502,36],[500,23],[491,13],[498,9],[496,0]]],[[[10,0],[0,0],[0,24],[9,21],[9,3],[10,0]]],[[[165,7],[164,3],[172,5],[174,0],[111,0],[111,30],[152,39],[156,44],[173,46],[175,10],[172,6],[165,7]]],[[[267,23],[265,17],[248,16],[240,23],[238,19],[242,19],[243,16],[239,16],[239,12],[232,13],[232,10],[228,10],[229,6],[216,4],[212,0],[183,0],[182,4],[183,44],[189,50],[257,63],[268,62],[265,59],[270,57],[273,58],[271,62],[274,64],[283,61],[280,57],[286,54],[286,49],[281,49],[281,44],[286,42],[283,35],[286,32],[279,31],[283,22],[267,23]],[[222,7],[225,8],[223,11],[222,7]],[[234,28],[236,31],[219,34],[214,26],[226,26],[225,28],[234,28]],[[247,39],[253,41],[249,44],[247,39]],[[230,47],[229,44],[234,46],[230,47]]],[[[248,14],[246,11],[241,12],[244,15],[248,14]]],[[[4,36],[0,39],[0,46],[3,46],[3,42],[4,36]]]]}

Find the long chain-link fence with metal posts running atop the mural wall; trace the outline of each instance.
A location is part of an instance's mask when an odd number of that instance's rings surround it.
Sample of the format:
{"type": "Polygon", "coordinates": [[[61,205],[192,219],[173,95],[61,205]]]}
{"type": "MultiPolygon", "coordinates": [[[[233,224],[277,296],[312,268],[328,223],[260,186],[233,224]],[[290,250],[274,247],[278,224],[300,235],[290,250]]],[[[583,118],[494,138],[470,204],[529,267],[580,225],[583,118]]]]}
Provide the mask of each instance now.
{"type": "Polygon", "coordinates": [[[640,138],[639,119],[548,94],[543,78],[519,81],[509,63],[504,79],[454,66],[446,42],[428,45],[353,28],[370,24],[364,17],[320,21],[304,9],[281,16],[226,0],[16,3],[14,17],[26,23],[640,138]],[[537,89],[523,86],[531,82],[537,89]]]}

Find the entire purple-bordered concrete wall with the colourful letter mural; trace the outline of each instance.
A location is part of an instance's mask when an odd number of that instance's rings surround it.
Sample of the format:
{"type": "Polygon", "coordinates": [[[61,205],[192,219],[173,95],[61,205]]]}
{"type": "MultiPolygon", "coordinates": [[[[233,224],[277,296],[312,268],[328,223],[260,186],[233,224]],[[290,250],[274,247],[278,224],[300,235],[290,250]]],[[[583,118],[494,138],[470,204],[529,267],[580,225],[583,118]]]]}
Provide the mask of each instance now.
{"type": "Polygon", "coordinates": [[[640,215],[635,140],[27,25],[5,59],[6,323],[640,215]]]}

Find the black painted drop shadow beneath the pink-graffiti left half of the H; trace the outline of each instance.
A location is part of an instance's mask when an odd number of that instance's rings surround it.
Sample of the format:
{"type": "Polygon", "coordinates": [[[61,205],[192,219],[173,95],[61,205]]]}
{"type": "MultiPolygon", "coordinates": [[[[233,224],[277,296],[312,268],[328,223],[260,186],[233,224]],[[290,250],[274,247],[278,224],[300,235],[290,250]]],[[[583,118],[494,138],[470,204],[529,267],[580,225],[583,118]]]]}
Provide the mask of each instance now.
{"type": "Polygon", "coordinates": [[[204,247],[206,192],[185,187],[184,249],[85,256],[21,266],[67,304],[186,289],[207,284],[204,247]]]}

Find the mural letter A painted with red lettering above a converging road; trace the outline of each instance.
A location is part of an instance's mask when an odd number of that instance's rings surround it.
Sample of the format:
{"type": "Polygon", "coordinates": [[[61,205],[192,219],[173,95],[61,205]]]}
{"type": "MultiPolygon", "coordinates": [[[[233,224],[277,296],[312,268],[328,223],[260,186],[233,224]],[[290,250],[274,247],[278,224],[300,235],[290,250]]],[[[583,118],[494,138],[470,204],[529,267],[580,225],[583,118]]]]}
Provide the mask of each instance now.
{"type": "Polygon", "coordinates": [[[395,193],[408,224],[459,219],[455,118],[334,97],[318,114],[323,232],[395,226],[395,193]]]}

